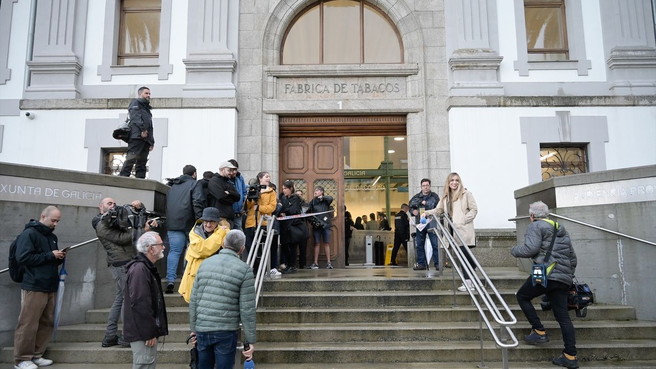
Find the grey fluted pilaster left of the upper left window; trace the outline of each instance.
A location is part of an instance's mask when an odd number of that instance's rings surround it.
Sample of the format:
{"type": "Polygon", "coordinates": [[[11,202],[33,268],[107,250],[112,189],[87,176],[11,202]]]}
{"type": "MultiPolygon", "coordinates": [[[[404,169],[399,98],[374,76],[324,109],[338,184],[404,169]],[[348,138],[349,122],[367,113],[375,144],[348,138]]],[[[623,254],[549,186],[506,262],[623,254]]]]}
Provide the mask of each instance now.
{"type": "Polygon", "coordinates": [[[37,2],[28,98],[79,98],[88,0],[37,2]]]}

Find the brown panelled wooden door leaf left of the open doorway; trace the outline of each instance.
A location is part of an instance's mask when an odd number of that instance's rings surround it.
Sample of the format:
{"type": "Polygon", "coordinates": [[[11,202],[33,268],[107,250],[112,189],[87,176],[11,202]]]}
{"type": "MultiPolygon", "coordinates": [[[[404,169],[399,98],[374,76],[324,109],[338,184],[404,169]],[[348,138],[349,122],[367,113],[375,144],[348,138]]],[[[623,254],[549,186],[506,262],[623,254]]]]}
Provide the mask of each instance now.
{"type": "MultiPolygon", "coordinates": [[[[333,267],[344,267],[344,154],[342,137],[281,137],[280,183],[290,180],[297,190],[303,191],[309,203],[316,186],[325,188],[333,197],[333,218],[330,253],[333,267]]],[[[309,227],[309,225],[308,225],[309,227]]],[[[308,240],[307,263],[314,261],[312,227],[308,240]]],[[[319,248],[319,265],[326,261],[323,244],[319,248]]]]}

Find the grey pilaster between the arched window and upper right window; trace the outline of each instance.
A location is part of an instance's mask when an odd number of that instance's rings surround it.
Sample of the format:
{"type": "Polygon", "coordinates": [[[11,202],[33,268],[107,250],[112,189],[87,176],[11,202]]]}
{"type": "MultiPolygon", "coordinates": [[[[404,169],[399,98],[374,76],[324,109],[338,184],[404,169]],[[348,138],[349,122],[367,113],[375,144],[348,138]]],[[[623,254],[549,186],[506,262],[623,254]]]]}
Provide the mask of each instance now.
{"type": "Polygon", "coordinates": [[[503,95],[493,0],[445,1],[451,95],[503,95]]]}

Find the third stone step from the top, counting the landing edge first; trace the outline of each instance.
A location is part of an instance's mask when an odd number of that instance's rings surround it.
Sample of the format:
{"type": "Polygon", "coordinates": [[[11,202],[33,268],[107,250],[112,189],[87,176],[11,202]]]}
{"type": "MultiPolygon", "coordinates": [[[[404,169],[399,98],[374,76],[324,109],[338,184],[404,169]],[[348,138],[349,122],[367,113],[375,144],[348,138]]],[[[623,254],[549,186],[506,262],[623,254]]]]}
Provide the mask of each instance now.
{"type": "MultiPolygon", "coordinates": [[[[518,321],[526,318],[518,305],[510,305],[510,310],[518,321]]],[[[103,324],[107,322],[110,309],[92,309],[87,311],[86,322],[103,324]]],[[[554,320],[550,311],[541,311],[538,316],[544,321],[554,320]]],[[[575,322],[586,320],[632,320],[636,318],[633,307],[623,305],[592,305],[588,307],[586,318],[576,318],[575,322]]],[[[168,307],[169,324],[188,324],[187,307],[168,307]]],[[[257,322],[262,323],[395,323],[395,322],[478,322],[476,307],[462,306],[457,309],[443,306],[388,306],[388,307],[277,307],[257,309],[257,322]]]]}

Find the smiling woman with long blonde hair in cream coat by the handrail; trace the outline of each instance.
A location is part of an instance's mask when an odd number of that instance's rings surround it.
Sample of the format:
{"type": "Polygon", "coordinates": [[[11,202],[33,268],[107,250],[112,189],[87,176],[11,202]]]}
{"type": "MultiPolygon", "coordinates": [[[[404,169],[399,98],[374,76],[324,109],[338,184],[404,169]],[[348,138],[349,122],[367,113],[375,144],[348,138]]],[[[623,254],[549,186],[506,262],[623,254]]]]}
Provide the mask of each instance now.
{"type": "MultiPolygon", "coordinates": [[[[462,236],[464,245],[461,244],[459,238],[455,237],[455,240],[459,244],[462,253],[464,253],[470,265],[476,270],[476,265],[470,257],[468,250],[464,250],[464,246],[467,246],[468,248],[476,247],[474,218],[476,218],[476,213],[478,213],[478,207],[476,207],[474,195],[472,195],[472,192],[469,192],[464,188],[458,173],[449,173],[449,175],[447,175],[447,181],[444,184],[444,191],[440,197],[438,206],[436,206],[435,209],[425,211],[422,214],[422,217],[426,217],[427,215],[437,217],[444,213],[451,218],[456,230],[462,236]]],[[[453,230],[451,230],[451,233],[453,234],[453,230]]],[[[462,269],[462,274],[464,276],[464,282],[468,284],[470,288],[474,288],[472,280],[464,269],[462,269]]],[[[458,290],[466,291],[467,288],[462,284],[458,290]]]]}

